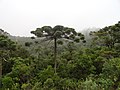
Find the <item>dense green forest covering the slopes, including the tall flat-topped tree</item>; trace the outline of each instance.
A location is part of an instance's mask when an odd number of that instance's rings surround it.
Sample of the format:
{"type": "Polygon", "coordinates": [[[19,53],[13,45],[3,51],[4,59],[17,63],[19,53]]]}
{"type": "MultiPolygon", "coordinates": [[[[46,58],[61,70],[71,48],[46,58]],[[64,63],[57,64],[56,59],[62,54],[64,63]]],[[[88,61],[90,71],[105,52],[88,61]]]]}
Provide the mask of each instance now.
{"type": "Polygon", "coordinates": [[[0,33],[0,90],[120,90],[120,22],[87,36],[61,25],[31,33],[0,33]]]}

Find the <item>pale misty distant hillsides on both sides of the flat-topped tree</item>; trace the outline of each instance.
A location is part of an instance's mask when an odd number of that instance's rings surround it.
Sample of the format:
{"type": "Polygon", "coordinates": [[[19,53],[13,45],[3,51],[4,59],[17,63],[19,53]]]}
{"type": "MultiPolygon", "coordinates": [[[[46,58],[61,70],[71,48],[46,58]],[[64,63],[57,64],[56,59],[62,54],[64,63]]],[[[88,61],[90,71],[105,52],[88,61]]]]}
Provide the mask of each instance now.
{"type": "MultiPolygon", "coordinates": [[[[88,29],[84,29],[81,33],[83,33],[85,35],[85,39],[86,39],[86,45],[90,45],[91,43],[91,37],[89,35],[90,31],[98,31],[99,28],[88,28],[88,29]]],[[[43,38],[36,38],[36,39],[32,39],[31,37],[20,37],[20,36],[12,36],[10,35],[8,32],[5,32],[4,30],[0,29],[0,34],[8,36],[12,41],[16,42],[18,45],[21,45],[23,47],[27,47],[25,46],[26,42],[29,42],[30,48],[38,48],[39,46],[45,47],[48,45],[49,41],[45,42],[45,40],[43,38]]],[[[53,42],[51,42],[53,43],[53,42]]],[[[51,45],[49,45],[51,46],[51,45]]],[[[29,49],[29,47],[28,47],[29,49]]]]}

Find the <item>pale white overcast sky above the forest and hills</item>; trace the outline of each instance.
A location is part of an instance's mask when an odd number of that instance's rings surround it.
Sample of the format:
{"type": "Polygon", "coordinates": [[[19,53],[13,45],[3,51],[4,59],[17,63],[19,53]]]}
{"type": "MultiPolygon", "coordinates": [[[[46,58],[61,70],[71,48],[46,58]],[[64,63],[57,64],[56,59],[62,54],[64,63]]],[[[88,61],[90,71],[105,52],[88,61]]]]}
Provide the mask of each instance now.
{"type": "Polygon", "coordinates": [[[0,0],[0,28],[16,36],[45,25],[81,31],[119,20],[120,0],[0,0]]]}

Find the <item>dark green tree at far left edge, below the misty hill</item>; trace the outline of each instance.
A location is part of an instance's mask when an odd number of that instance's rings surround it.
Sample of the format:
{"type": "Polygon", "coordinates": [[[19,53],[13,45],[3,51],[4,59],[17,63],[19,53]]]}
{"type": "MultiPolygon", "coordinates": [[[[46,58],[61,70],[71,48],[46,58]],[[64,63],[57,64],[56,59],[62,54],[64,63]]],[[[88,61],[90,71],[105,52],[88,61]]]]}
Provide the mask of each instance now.
{"type": "Polygon", "coordinates": [[[0,35],[0,78],[3,74],[10,71],[11,63],[8,63],[7,59],[10,58],[10,56],[12,55],[12,51],[14,51],[15,49],[16,45],[13,41],[8,39],[7,36],[0,35]]]}

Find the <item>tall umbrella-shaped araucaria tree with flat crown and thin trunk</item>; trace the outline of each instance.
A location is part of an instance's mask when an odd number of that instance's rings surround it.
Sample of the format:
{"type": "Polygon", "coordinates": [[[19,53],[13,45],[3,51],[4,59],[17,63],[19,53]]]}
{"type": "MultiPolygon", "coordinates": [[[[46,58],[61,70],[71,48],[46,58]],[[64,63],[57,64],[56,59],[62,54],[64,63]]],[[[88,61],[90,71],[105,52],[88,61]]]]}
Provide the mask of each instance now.
{"type": "Polygon", "coordinates": [[[37,28],[35,31],[31,31],[37,37],[45,37],[47,40],[54,40],[54,72],[56,73],[57,68],[57,40],[65,38],[69,41],[79,42],[84,40],[84,35],[77,33],[75,29],[57,25],[55,27],[43,26],[37,28]]]}

